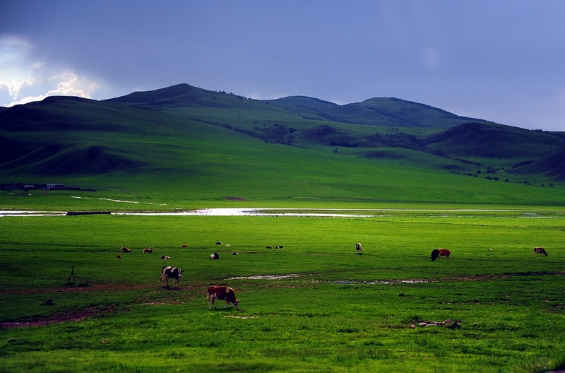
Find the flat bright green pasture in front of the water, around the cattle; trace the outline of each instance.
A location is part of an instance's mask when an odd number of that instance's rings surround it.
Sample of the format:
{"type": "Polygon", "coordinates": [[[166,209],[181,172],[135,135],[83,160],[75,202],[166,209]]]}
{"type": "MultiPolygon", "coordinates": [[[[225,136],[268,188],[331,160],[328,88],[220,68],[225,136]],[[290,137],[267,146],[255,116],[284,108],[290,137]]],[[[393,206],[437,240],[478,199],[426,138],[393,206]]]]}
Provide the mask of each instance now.
{"type": "Polygon", "coordinates": [[[1,328],[0,371],[563,367],[564,213],[3,217],[0,321],[62,322],[1,328]],[[266,249],[276,245],[284,247],[266,249]],[[549,256],[534,256],[537,245],[549,256]],[[121,246],[133,252],[116,259],[121,246]],[[451,249],[451,258],[430,261],[434,247],[451,249]],[[209,259],[214,251],[220,260],[209,259]],[[178,290],[157,283],[165,264],[184,268],[178,290]],[[66,285],[72,267],[76,285],[66,285]],[[289,274],[300,276],[251,277],[289,274]],[[216,283],[236,290],[238,310],[208,310],[204,291],[216,283]],[[419,326],[445,319],[463,323],[419,326]]]}

